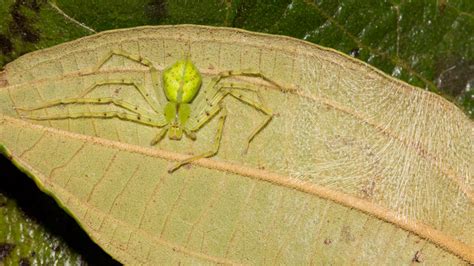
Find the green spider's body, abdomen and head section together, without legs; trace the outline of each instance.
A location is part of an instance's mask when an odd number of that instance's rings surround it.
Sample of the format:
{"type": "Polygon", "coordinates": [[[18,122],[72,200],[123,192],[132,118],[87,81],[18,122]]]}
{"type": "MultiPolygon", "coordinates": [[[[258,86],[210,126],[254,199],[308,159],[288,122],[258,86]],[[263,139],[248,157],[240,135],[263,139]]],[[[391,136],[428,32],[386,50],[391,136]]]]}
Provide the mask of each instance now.
{"type": "Polygon", "coordinates": [[[191,114],[189,103],[198,93],[201,83],[201,74],[189,59],[179,60],[163,72],[163,89],[168,98],[164,114],[169,123],[170,139],[180,140],[183,132],[191,139],[196,138],[186,128],[186,122],[191,114]]]}

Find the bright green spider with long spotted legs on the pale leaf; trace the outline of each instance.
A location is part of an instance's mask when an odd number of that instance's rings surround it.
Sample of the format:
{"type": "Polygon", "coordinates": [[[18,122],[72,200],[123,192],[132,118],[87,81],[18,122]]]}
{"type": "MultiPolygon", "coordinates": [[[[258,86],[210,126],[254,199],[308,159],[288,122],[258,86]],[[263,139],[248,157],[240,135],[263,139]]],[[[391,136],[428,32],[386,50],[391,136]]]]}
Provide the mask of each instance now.
{"type": "MultiPolygon", "coordinates": [[[[159,89],[159,74],[157,69],[153,66],[150,60],[141,56],[129,54],[122,50],[113,50],[107,54],[95,67],[95,71],[98,71],[107,61],[113,56],[122,56],[138,64],[147,67],[151,74],[153,89],[158,92],[159,89]]],[[[107,81],[99,81],[88,87],[83,93],[75,98],[66,98],[53,100],[43,103],[36,107],[16,109],[25,112],[46,109],[58,105],[67,104],[111,104],[122,111],[106,111],[106,112],[77,112],[68,113],[65,115],[51,115],[51,116],[22,116],[22,118],[30,120],[60,120],[60,119],[77,119],[77,118],[117,118],[125,121],[130,121],[154,128],[160,128],[155,138],[151,141],[151,145],[158,144],[168,133],[168,137],[171,140],[180,140],[183,135],[195,140],[196,132],[201,129],[207,122],[209,122],[214,116],[220,114],[219,122],[217,126],[217,133],[214,138],[212,149],[199,155],[191,156],[185,160],[182,160],[172,166],[168,172],[173,172],[181,166],[191,163],[200,158],[212,157],[219,151],[219,146],[222,138],[222,132],[224,123],[227,116],[227,111],[222,105],[222,101],[228,95],[236,98],[240,102],[252,106],[256,110],[262,112],[266,118],[264,121],[256,127],[247,138],[246,150],[248,150],[250,142],[255,136],[267,126],[273,117],[272,111],[265,106],[262,102],[260,91],[255,85],[245,82],[226,82],[229,77],[254,77],[261,78],[273,86],[280,87],[276,82],[267,78],[265,75],[257,71],[224,71],[217,74],[211,79],[209,84],[203,89],[205,94],[205,101],[193,101],[198,94],[202,78],[199,70],[193,64],[193,62],[186,57],[186,59],[178,60],[170,67],[163,71],[162,81],[163,89],[166,95],[166,102],[164,99],[159,99],[160,104],[164,106],[160,110],[159,105],[156,104],[152,97],[146,92],[143,85],[138,82],[127,80],[127,79],[110,79],[107,81]],[[139,107],[135,104],[126,102],[122,99],[115,97],[102,97],[102,98],[85,98],[85,96],[91,93],[93,90],[104,85],[127,85],[136,89],[140,95],[150,105],[153,113],[139,107]],[[249,96],[244,91],[250,91],[256,94],[258,97],[249,96]],[[191,116],[191,105],[199,104],[199,108],[195,115],[191,116]]],[[[160,97],[158,97],[160,98],[160,97]]]]}

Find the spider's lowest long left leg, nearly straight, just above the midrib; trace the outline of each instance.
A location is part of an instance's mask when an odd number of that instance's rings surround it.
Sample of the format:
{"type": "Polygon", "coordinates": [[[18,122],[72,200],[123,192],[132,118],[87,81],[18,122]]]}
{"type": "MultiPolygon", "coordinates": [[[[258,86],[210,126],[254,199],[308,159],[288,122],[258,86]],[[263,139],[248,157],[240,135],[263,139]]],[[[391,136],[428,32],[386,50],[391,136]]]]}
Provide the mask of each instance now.
{"type": "Polygon", "coordinates": [[[145,114],[130,114],[125,112],[108,111],[108,112],[83,112],[69,113],[65,115],[46,115],[46,116],[21,116],[30,120],[62,120],[62,119],[78,119],[78,118],[118,118],[124,121],[130,121],[150,127],[164,127],[168,124],[166,121],[153,119],[145,114]]]}

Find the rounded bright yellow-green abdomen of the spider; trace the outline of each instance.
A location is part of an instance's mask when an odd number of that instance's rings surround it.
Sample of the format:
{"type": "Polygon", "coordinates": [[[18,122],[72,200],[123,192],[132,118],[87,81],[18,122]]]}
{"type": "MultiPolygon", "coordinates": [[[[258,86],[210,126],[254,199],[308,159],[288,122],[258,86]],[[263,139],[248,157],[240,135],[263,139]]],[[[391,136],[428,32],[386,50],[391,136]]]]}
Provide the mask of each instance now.
{"type": "Polygon", "coordinates": [[[163,72],[163,88],[171,102],[189,103],[201,87],[201,74],[191,60],[178,60],[163,72]]]}

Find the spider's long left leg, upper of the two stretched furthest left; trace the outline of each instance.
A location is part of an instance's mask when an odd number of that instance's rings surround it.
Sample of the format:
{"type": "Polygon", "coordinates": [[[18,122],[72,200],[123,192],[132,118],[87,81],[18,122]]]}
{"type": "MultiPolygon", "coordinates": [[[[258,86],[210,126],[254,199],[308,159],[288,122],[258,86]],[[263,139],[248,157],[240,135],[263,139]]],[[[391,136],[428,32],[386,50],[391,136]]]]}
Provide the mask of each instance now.
{"type": "Polygon", "coordinates": [[[129,110],[136,114],[146,114],[153,116],[154,114],[150,114],[146,109],[139,107],[138,105],[131,104],[129,102],[123,101],[117,98],[67,98],[67,99],[59,99],[50,102],[43,103],[41,105],[29,108],[17,107],[17,110],[20,111],[35,111],[40,109],[46,109],[58,105],[66,105],[66,104],[113,104],[117,107],[121,107],[123,109],[129,110]]]}

